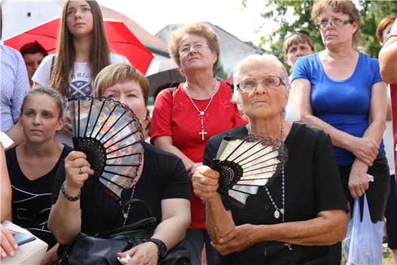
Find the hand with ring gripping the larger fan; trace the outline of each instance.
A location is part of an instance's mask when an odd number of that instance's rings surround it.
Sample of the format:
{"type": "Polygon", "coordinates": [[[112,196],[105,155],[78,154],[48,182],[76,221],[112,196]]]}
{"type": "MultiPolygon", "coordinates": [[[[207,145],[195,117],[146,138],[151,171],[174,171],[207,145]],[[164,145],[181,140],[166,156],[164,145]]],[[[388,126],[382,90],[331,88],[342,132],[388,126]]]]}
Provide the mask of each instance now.
{"type": "Polygon", "coordinates": [[[71,196],[79,192],[80,188],[84,185],[84,181],[88,179],[88,175],[94,174],[86,158],[87,156],[85,153],[72,151],[65,159],[65,189],[68,193],[71,192],[71,196]],[[79,174],[80,168],[82,174],[79,174]]]}

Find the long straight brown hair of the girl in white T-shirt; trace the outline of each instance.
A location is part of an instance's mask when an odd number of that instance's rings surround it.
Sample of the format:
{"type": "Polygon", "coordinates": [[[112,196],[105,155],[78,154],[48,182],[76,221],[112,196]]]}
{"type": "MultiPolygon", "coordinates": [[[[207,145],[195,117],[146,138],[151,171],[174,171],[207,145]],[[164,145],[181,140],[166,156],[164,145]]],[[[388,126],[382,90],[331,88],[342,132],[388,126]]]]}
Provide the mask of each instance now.
{"type": "MultiPolygon", "coordinates": [[[[67,96],[69,93],[69,78],[73,72],[76,56],[75,47],[73,46],[73,35],[66,24],[66,12],[70,1],[66,0],[64,2],[62,23],[57,40],[58,53],[55,56],[50,77],[50,86],[59,90],[63,96],[67,96]]],[[[94,19],[92,46],[88,62],[91,69],[91,78],[94,79],[103,68],[110,64],[110,49],[105,34],[105,27],[103,26],[101,8],[97,1],[88,0],[87,3],[90,5],[94,19]]]]}

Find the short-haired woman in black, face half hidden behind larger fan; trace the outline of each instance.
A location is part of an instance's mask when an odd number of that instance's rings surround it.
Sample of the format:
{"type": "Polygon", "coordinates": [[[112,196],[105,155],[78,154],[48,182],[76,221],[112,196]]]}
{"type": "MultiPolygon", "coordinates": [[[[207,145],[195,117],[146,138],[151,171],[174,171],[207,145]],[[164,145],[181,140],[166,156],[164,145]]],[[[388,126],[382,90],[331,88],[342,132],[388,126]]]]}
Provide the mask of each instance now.
{"type": "MultiPolygon", "coordinates": [[[[105,67],[95,80],[95,88],[96,97],[120,101],[132,110],[140,123],[145,120],[149,82],[129,64],[105,67]]],[[[94,114],[91,112],[91,115],[94,114]]],[[[166,250],[175,247],[185,236],[190,223],[188,175],[178,157],[144,142],[139,123],[133,130],[138,132],[139,139],[138,144],[131,144],[131,155],[140,155],[142,160],[136,168],[133,186],[121,192],[119,201],[114,200],[108,196],[114,194],[114,190],[105,187],[112,187],[109,182],[103,186],[98,179],[90,177],[94,175],[94,167],[91,168],[87,155],[73,151],[66,157],[55,180],[49,227],[60,244],[69,244],[79,231],[93,236],[146,218],[139,205],[120,207],[130,198],[141,199],[157,218],[157,227],[151,241],[118,253],[118,256],[129,254],[128,264],[157,264],[157,260],[165,255],[164,247],[166,250]]],[[[109,160],[106,163],[110,163],[109,160]]]]}

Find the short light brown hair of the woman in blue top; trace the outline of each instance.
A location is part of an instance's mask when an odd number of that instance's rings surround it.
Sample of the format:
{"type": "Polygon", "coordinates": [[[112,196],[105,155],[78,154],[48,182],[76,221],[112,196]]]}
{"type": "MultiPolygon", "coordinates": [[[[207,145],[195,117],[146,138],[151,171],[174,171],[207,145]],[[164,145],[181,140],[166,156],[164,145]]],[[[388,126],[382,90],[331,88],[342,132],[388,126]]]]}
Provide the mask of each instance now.
{"type": "Polygon", "coordinates": [[[350,19],[357,23],[357,30],[353,34],[353,45],[357,46],[360,42],[359,28],[361,27],[361,23],[360,12],[356,8],[355,3],[351,0],[316,0],[311,8],[311,21],[317,25],[317,23],[320,22],[319,18],[321,13],[328,7],[331,7],[335,13],[342,12],[350,16],[350,19]]]}

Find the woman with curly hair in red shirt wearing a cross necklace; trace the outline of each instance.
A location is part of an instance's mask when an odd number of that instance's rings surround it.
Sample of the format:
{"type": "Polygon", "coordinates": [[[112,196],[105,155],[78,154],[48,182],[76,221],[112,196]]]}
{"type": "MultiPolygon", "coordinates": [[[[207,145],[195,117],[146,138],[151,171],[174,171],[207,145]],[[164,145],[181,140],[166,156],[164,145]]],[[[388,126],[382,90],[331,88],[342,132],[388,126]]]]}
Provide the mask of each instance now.
{"type": "MultiPolygon", "coordinates": [[[[235,104],[232,90],[214,78],[219,62],[216,32],[202,23],[185,25],[172,32],[170,55],[186,77],[177,88],[159,92],[151,123],[151,142],[180,157],[191,176],[203,162],[205,143],[214,134],[244,123],[235,104]]],[[[186,232],[186,246],[192,264],[201,264],[205,243],[207,263],[218,258],[205,230],[204,205],[192,194],[192,223],[186,232]]]]}

